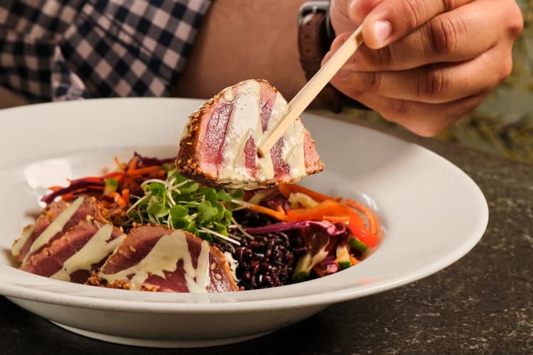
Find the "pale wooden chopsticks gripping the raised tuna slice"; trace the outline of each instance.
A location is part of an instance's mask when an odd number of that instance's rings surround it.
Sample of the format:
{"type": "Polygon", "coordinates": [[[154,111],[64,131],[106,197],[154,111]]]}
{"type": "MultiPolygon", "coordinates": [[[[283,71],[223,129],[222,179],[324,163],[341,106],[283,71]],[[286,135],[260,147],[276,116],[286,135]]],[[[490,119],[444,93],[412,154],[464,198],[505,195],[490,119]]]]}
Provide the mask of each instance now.
{"type": "Polygon", "coordinates": [[[340,70],[345,62],[355,53],[359,48],[362,39],[362,26],[359,26],[352,35],[346,40],[343,45],[335,52],[328,62],[321,67],[318,72],[307,82],[307,84],[294,96],[289,102],[289,109],[283,119],[281,119],[277,126],[271,131],[269,136],[259,143],[257,148],[257,155],[263,157],[266,152],[269,152],[274,144],[281,138],[289,127],[305,110],[315,97],[322,91],[326,84],[331,80],[336,72],[340,70]]]}

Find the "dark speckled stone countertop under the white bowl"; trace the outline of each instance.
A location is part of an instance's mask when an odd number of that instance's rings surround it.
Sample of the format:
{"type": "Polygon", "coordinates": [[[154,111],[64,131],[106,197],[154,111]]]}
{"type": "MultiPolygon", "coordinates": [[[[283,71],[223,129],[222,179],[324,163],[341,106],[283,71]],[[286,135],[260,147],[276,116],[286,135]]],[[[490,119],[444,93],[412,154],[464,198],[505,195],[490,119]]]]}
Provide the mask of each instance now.
{"type": "Polygon", "coordinates": [[[0,297],[3,354],[533,354],[533,165],[409,139],[458,165],[488,200],[485,235],[443,271],[331,305],[264,337],[204,349],[145,349],[88,339],[0,297]]]}

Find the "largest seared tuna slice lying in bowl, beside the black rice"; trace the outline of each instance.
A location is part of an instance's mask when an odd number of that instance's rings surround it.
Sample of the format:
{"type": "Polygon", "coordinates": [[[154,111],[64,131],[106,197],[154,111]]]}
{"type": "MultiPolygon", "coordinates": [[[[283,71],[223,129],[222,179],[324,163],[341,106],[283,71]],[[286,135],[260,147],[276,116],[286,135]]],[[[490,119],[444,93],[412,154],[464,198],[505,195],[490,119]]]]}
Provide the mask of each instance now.
{"type": "Polygon", "coordinates": [[[187,231],[136,226],[88,283],[126,290],[225,292],[237,290],[224,254],[187,231]]]}

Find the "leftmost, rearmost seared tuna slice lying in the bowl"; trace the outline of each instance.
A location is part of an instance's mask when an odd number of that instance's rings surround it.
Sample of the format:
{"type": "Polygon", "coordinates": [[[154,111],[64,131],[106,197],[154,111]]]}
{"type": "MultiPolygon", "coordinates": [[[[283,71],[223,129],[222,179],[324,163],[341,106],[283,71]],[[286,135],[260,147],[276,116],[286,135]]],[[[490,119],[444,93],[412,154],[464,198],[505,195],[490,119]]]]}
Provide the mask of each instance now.
{"type": "Polygon", "coordinates": [[[11,253],[24,262],[53,241],[59,239],[72,226],[85,217],[102,219],[101,205],[94,197],[78,197],[72,203],[65,201],[52,202],[36,220],[33,226],[23,229],[21,238],[11,247],[11,253]]]}

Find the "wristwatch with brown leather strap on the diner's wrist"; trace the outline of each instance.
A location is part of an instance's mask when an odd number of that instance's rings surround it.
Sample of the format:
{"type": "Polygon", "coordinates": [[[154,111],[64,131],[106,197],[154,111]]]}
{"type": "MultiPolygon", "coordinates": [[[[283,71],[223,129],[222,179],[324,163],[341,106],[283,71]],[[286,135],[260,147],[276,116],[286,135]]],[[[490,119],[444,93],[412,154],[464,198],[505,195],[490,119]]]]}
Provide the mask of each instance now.
{"type": "MultiPolygon", "coordinates": [[[[298,10],[298,50],[301,67],[306,73],[307,80],[310,80],[321,68],[322,58],[330,50],[335,38],[335,31],[330,22],[330,3],[329,0],[306,1],[298,10]]],[[[343,95],[331,84],[324,87],[315,102],[335,113],[343,109],[343,104],[366,109],[359,102],[343,95]]]]}

